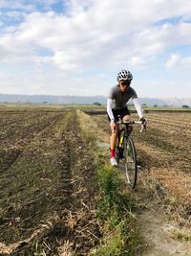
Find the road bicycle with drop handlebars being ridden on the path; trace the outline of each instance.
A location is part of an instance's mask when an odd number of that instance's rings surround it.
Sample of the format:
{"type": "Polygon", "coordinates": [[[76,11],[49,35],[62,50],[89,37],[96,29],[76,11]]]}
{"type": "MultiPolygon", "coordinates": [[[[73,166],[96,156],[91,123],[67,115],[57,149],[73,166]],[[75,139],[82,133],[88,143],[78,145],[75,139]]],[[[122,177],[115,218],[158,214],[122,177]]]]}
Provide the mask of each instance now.
{"type": "MultiPolygon", "coordinates": [[[[134,124],[141,125],[142,123],[140,121],[122,121],[118,116],[117,124],[119,124],[116,147],[117,166],[125,171],[126,183],[134,189],[138,179],[138,163],[131,131],[134,124]]],[[[141,125],[140,132],[143,128],[141,125]]]]}

